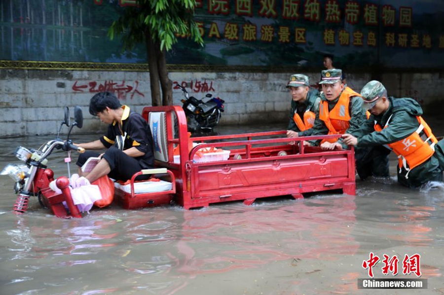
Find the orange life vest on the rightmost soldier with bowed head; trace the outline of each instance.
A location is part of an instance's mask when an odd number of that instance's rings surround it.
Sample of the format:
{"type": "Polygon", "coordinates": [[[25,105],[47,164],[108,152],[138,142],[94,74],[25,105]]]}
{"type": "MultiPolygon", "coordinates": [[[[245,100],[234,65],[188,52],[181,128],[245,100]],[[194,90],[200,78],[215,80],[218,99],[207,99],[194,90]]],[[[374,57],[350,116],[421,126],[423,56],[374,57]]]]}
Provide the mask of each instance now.
{"type": "MultiPolygon", "coordinates": [[[[390,118],[387,120],[384,128],[387,128],[390,118]]],[[[438,142],[435,135],[429,125],[422,119],[421,116],[417,116],[419,127],[406,138],[389,143],[388,146],[398,155],[398,166],[401,172],[401,168],[404,167],[407,170],[406,178],[408,178],[408,172],[414,167],[426,162],[435,153],[435,144],[438,142]],[[421,138],[419,133],[424,131],[426,139],[421,138]]],[[[375,131],[382,131],[382,127],[379,124],[374,125],[375,131]]]]}

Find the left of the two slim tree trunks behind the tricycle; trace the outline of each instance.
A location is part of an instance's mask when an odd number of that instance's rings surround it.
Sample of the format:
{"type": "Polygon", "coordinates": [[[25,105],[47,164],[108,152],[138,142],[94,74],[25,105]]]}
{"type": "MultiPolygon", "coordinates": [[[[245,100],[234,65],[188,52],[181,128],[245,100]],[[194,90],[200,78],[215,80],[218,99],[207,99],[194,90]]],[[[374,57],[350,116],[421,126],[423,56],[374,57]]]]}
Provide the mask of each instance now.
{"type": "Polygon", "coordinates": [[[149,68],[149,84],[151,88],[151,104],[152,106],[162,105],[160,100],[160,87],[159,87],[159,71],[157,66],[157,54],[154,49],[154,42],[149,32],[145,32],[145,42],[147,46],[148,54],[148,68],[149,68]]]}

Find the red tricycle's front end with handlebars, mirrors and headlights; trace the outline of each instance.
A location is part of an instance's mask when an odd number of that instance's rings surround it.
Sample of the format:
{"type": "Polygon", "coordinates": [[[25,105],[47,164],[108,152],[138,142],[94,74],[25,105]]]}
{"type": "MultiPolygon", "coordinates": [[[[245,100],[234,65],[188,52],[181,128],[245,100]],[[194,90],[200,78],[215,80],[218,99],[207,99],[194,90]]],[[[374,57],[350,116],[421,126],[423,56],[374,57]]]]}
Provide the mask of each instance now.
{"type": "MultiPolygon", "coordinates": [[[[48,157],[54,149],[62,149],[68,152],[77,151],[79,153],[85,152],[81,147],[73,144],[69,139],[71,131],[74,126],[82,128],[83,114],[80,106],[74,108],[74,123],[70,124],[70,111],[65,107],[65,118],[61,122],[57,138],[49,140],[43,144],[39,149],[28,149],[19,146],[15,149],[15,156],[24,162],[24,164],[8,164],[0,172],[0,175],[9,175],[16,182],[14,184],[14,193],[18,195],[15,204],[14,212],[17,214],[25,213],[28,210],[29,198],[37,196],[40,205],[43,207],[50,207],[57,217],[62,218],[81,218],[81,214],[71,197],[69,190],[70,181],[67,177],[62,176],[56,180],[57,187],[62,191],[62,194],[54,192],[49,184],[54,180],[54,172],[46,165],[48,157]],[[66,140],[59,138],[62,126],[69,127],[68,136],[66,140]],[[66,210],[63,202],[66,201],[69,211],[66,210]]],[[[70,162],[71,158],[65,158],[68,164],[68,174],[71,177],[70,162]]]]}

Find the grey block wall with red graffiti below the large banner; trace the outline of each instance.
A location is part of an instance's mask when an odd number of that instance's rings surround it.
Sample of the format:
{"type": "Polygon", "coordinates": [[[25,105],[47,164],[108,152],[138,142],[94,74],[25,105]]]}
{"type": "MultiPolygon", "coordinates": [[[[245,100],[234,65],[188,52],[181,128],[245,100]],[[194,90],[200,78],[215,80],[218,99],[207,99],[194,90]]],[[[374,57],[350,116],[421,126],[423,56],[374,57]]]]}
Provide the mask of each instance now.
{"type": "MultiPolygon", "coordinates": [[[[193,82],[190,94],[202,98],[208,92],[225,100],[225,112],[220,124],[288,123],[290,95],[285,88],[293,73],[240,72],[171,72],[179,83],[193,82]],[[198,82],[196,84],[196,82],[198,82]],[[200,84],[200,86],[199,86],[200,84]]],[[[312,84],[319,72],[305,73],[312,84]]],[[[382,75],[389,95],[416,98],[425,109],[437,110],[442,103],[439,85],[442,73],[388,73],[382,75]]],[[[370,74],[347,73],[350,87],[360,91],[370,74]]],[[[151,105],[149,78],[146,72],[25,70],[0,69],[0,137],[56,133],[63,120],[63,107],[83,109],[84,127],[74,132],[104,130],[105,125],[88,113],[89,99],[98,91],[113,90],[122,104],[141,112],[151,105]]],[[[180,90],[174,91],[174,103],[181,105],[180,90]]],[[[64,131],[67,129],[64,128],[64,131]]]]}

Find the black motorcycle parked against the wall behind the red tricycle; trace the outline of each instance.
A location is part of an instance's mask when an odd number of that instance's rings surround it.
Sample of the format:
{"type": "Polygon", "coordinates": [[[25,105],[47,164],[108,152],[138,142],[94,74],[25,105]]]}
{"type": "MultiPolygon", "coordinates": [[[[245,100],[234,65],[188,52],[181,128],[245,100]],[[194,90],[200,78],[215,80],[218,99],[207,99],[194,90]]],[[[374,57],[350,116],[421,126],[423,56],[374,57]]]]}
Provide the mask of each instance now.
{"type": "Polygon", "coordinates": [[[185,99],[182,99],[182,108],[185,111],[188,131],[190,132],[212,132],[213,128],[219,124],[223,103],[221,98],[212,98],[212,94],[207,94],[206,98],[211,98],[204,102],[202,99],[190,97],[185,87],[177,83],[177,87],[184,92],[185,99]]]}

